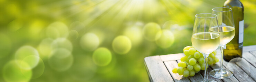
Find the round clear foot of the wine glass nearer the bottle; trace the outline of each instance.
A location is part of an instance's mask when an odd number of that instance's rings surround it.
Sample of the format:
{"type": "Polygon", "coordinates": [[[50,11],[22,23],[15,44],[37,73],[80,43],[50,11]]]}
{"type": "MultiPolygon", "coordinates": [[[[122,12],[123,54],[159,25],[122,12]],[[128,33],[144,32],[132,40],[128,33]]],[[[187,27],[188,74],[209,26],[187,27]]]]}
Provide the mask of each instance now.
{"type": "Polygon", "coordinates": [[[233,72],[228,71],[226,69],[214,69],[211,70],[209,73],[211,77],[217,78],[217,79],[226,79],[233,76],[233,72]]]}

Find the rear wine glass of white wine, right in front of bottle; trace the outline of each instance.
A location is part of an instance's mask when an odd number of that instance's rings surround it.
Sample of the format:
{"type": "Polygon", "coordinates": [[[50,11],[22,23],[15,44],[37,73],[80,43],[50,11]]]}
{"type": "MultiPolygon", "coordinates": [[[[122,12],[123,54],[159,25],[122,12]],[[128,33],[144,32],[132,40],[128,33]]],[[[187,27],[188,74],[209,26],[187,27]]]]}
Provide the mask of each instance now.
{"type": "Polygon", "coordinates": [[[213,8],[212,13],[217,15],[219,27],[211,27],[210,31],[219,29],[220,33],[220,68],[210,71],[210,76],[218,79],[226,79],[233,76],[229,70],[223,69],[223,49],[224,46],[235,37],[235,25],[231,8],[213,8]]]}

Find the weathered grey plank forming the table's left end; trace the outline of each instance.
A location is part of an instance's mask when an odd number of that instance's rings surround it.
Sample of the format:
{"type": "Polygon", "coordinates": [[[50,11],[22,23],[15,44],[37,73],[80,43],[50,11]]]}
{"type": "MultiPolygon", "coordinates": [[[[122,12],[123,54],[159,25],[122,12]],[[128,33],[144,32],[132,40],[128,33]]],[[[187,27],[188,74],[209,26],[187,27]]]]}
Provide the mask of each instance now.
{"type": "Polygon", "coordinates": [[[174,82],[159,56],[145,57],[144,64],[152,82],[174,82]]]}

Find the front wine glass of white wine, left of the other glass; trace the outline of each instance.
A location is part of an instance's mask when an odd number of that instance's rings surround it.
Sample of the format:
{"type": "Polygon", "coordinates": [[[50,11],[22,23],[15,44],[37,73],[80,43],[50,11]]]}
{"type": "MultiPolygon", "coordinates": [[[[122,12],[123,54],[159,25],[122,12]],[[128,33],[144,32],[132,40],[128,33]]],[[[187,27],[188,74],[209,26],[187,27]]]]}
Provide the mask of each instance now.
{"type": "Polygon", "coordinates": [[[205,78],[201,82],[216,82],[208,80],[207,60],[210,53],[215,51],[220,44],[220,34],[209,31],[210,27],[218,27],[217,15],[210,13],[196,14],[191,42],[197,51],[203,54],[205,60],[205,78]]]}

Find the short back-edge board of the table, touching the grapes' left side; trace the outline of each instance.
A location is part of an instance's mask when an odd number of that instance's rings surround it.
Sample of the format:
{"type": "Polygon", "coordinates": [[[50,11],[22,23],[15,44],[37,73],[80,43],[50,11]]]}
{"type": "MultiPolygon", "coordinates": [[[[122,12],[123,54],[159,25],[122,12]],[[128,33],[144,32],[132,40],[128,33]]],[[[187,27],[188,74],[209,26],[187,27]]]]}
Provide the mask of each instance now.
{"type": "Polygon", "coordinates": [[[185,54],[179,53],[179,54],[160,55],[160,58],[162,61],[170,61],[170,60],[179,60],[183,56],[185,56],[185,54]]]}

